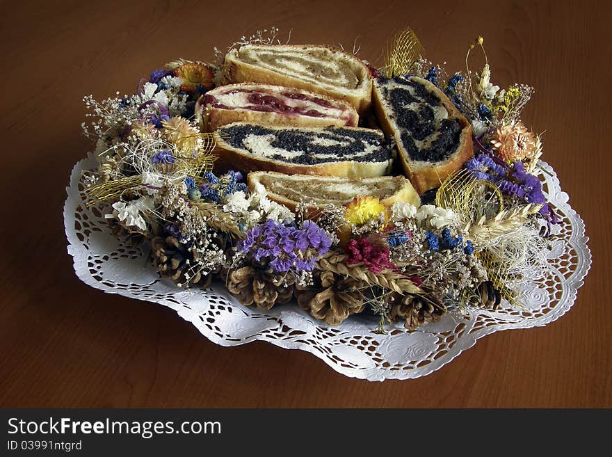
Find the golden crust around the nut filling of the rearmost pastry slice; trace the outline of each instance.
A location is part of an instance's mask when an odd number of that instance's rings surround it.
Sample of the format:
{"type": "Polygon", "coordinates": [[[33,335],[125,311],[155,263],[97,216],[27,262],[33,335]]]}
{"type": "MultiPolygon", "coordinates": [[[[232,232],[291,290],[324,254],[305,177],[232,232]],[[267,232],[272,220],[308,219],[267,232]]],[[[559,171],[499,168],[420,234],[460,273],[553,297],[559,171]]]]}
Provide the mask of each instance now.
{"type": "Polygon", "coordinates": [[[260,65],[247,63],[241,60],[239,49],[232,49],[225,55],[225,62],[222,69],[222,84],[228,83],[241,83],[241,82],[256,82],[264,84],[273,84],[276,86],[285,86],[292,88],[299,88],[304,90],[310,90],[314,93],[321,95],[327,95],[339,100],[344,100],[348,104],[355,107],[358,113],[365,113],[371,106],[371,91],[372,91],[372,78],[368,67],[362,63],[358,58],[351,54],[347,54],[340,49],[335,49],[328,46],[315,46],[315,45],[248,45],[248,47],[259,47],[261,49],[273,48],[275,52],[282,52],[283,50],[295,51],[298,49],[328,49],[332,54],[336,54],[351,62],[355,69],[355,75],[360,81],[360,86],[355,90],[342,90],[341,87],[333,88],[329,86],[323,86],[321,83],[314,83],[311,81],[305,81],[297,77],[291,77],[287,74],[274,71],[272,69],[261,67],[260,65]]]}

